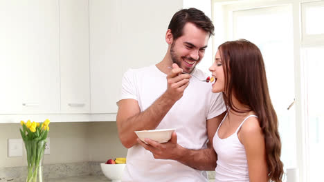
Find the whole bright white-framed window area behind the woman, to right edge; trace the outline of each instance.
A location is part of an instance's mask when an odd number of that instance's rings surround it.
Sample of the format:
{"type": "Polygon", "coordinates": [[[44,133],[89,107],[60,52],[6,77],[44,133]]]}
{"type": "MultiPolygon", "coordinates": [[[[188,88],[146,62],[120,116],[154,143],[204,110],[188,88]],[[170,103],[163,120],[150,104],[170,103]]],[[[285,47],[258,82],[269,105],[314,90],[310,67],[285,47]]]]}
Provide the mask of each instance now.
{"type": "Polygon", "coordinates": [[[321,181],[324,1],[213,0],[212,4],[213,50],[224,41],[247,39],[262,52],[285,169],[298,168],[299,181],[321,181]],[[294,99],[295,105],[287,110],[294,99]]]}

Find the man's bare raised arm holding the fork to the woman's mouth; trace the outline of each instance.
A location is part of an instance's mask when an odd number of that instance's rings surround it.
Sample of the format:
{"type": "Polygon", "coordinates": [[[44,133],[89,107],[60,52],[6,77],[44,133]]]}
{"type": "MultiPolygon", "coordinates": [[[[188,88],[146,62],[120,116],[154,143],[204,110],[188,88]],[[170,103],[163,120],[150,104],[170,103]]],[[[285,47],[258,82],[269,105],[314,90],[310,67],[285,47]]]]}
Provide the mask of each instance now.
{"type": "Polygon", "coordinates": [[[126,148],[131,148],[137,143],[134,131],[155,129],[188,87],[190,74],[181,74],[181,68],[176,64],[172,66],[174,69],[167,76],[168,89],[145,111],[141,112],[138,101],[134,99],[118,102],[118,136],[126,148]]]}

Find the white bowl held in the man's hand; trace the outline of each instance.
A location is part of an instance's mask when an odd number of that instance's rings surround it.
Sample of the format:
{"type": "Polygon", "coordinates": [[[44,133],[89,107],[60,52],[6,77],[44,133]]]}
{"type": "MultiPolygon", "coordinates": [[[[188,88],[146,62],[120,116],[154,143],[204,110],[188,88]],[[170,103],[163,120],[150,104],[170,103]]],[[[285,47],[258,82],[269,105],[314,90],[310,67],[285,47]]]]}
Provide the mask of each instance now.
{"type": "Polygon", "coordinates": [[[174,128],[171,129],[161,129],[161,130],[142,130],[135,131],[138,138],[141,139],[144,143],[144,139],[151,139],[157,141],[159,143],[168,142],[171,139],[172,132],[174,132],[174,128]]]}

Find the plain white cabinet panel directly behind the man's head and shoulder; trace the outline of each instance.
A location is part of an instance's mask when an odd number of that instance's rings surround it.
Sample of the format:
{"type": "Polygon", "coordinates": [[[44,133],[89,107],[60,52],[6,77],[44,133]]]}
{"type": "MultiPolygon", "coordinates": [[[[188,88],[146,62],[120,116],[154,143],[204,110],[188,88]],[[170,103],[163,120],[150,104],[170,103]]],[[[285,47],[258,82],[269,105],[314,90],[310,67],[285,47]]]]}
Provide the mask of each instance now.
{"type": "Polygon", "coordinates": [[[116,114],[121,79],[129,68],[161,61],[165,32],[183,1],[89,1],[91,113],[116,114]]]}

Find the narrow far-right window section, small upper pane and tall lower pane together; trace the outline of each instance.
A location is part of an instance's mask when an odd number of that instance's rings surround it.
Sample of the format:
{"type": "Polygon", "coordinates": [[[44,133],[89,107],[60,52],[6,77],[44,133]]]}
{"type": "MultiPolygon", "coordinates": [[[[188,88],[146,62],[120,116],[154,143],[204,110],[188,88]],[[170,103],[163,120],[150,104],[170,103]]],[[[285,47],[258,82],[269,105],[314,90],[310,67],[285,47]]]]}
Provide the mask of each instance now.
{"type": "Polygon", "coordinates": [[[308,181],[321,179],[321,163],[324,162],[324,114],[321,66],[324,52],[324,1],[301,3],[303,55],[302,74],[305,88],[305,138],[306,176],[308,181]]]}

